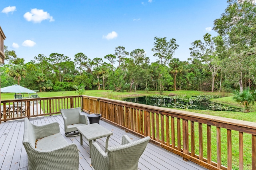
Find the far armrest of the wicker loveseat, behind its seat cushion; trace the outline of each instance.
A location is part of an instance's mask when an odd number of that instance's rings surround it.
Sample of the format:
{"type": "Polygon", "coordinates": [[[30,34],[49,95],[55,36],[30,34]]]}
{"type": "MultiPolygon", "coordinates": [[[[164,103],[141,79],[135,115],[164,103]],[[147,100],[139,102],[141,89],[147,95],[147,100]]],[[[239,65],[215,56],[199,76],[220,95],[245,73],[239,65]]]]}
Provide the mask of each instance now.
{"type": "Polygon", "coordinates": [[[37,126],[33,125],[36,139],[44,138],[60,132],[59,123],[54,122],[47,125],[37,126]]]}

